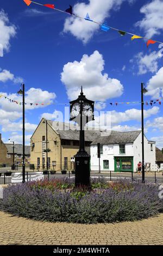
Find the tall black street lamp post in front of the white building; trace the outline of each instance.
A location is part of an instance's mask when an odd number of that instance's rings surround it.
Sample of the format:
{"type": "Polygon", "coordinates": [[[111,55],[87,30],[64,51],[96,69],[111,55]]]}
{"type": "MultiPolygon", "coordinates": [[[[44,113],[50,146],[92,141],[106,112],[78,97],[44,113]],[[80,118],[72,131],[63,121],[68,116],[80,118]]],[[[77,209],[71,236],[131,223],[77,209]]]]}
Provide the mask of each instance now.
{"type": "Polygon", "coordinates": [[[145,84],[141,83],[141,135],[142,135],[142,183],[145,183],[145,147],[144,147],[144,100],[143,94],[147,93],[145,84]]]}

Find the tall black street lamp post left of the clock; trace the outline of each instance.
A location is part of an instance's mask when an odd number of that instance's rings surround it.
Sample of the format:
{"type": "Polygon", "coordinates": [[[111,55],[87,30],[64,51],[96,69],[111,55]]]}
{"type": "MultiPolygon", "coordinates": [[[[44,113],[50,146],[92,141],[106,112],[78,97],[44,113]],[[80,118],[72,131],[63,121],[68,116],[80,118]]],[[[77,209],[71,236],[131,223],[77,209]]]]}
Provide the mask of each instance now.
{"type": "Polygon", "coordinates": [[[24,84],[21,85],[21,88],[17,93],[23,96],[23,166],[22,166],[23,180],[22,180],[22,182],[24,183],[24,182],[26,182],[26,166],[25,166],[25,86],[24,86],[24,84]]]}

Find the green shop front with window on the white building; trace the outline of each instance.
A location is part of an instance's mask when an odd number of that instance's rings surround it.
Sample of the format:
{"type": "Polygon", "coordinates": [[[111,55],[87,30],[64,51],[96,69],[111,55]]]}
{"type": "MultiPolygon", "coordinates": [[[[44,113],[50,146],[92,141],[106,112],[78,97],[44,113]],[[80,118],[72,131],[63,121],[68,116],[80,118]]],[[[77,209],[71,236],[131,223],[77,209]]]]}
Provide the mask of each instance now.
{"type": "Polygon", "coordinates": [[[115,156],[114,169],[115,172],[133,172],[133,156],[115,156]]]}

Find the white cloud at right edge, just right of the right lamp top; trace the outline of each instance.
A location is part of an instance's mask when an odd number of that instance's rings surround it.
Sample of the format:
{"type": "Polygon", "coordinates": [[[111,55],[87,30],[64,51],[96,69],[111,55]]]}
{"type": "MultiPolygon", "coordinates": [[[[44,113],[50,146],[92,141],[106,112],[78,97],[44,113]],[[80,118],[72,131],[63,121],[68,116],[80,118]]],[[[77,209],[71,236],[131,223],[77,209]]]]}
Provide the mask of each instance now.
{"type": "MultiPolygon", "coordinates": [[[[147,83],[148,95],[155,98],[161,96],[161,90],[163,89],[163,67],[147,83]]],[[[163,96],[163,94],[162,94],[163,96]]]]}

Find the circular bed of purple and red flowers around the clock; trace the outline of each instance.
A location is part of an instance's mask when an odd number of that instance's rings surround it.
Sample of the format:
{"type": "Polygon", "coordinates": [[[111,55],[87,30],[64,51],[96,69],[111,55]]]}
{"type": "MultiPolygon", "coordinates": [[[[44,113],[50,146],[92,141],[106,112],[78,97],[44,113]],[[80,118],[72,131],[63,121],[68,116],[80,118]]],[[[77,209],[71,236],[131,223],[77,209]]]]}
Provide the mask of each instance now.
{"type": "Polygon", "coordinates": [[[157,185],[93,179],[91,186],[74,188],[68,179],[10,185],[1,209],[34,220],[89,224],[141,220],[163,209],[157,185]]]}

